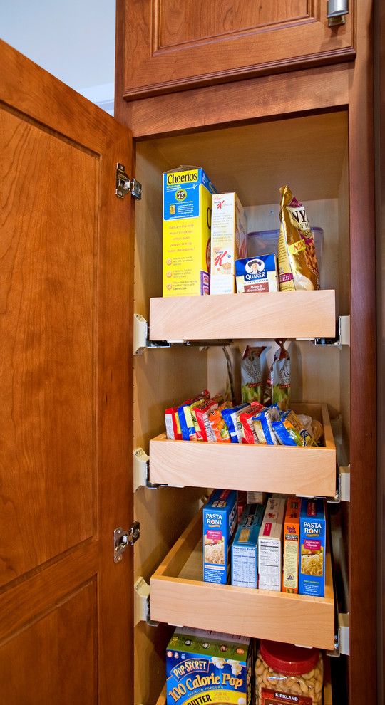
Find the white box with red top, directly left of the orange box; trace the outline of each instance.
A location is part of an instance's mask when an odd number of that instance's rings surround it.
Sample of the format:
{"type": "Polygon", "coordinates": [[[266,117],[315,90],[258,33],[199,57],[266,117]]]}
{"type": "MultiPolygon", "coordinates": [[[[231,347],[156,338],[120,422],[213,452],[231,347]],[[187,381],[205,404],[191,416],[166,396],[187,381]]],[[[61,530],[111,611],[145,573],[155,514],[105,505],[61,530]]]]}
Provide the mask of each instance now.
{"type": "Polygon", "coordinates": [[[258,588],[281,590],[282,585],[282,531],[286,499],[267,500],[258,538],[258,588]]]}

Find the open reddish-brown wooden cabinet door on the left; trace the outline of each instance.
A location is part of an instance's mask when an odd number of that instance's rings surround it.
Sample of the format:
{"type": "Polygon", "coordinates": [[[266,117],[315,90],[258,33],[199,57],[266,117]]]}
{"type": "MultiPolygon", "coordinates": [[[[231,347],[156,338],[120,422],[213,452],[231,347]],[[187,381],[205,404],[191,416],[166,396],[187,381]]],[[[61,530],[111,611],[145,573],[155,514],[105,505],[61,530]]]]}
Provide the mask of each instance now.
{"type": "Polygon", "coordinates": [[[132,140],[4,43],[0,66],[0,700],[127,705],[132,140]]]}

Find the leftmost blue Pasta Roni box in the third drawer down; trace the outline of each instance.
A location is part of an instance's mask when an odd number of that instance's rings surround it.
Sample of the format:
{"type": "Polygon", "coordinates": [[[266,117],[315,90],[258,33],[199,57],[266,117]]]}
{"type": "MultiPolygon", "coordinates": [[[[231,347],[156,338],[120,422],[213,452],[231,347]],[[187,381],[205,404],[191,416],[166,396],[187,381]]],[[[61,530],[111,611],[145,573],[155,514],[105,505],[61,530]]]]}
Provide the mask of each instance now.
{"type": "Polygon", "coordinates": [[[203,507],[203,580],[226,584],[230,543],[237,528],[237,492],[214,490],[203,507]]]}

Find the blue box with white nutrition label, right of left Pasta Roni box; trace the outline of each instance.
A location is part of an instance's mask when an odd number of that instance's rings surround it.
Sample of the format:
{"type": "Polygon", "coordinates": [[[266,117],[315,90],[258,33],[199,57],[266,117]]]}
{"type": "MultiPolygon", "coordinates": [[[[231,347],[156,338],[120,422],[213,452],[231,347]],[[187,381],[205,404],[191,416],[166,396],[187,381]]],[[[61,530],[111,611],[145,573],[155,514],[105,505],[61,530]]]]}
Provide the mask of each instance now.
{"type": "Polygon", "coordinates": [[[265,506],[245,507],[231,547],[231,584],[240,588],[258,587],[258,536],[265,506]]]}

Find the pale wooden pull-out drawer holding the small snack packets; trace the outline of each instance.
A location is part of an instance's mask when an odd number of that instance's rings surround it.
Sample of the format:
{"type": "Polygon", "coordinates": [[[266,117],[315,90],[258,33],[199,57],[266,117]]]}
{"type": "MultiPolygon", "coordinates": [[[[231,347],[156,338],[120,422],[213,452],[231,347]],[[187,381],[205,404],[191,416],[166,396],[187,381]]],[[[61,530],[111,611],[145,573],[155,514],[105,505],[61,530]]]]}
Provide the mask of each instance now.
{"type": "Polygon", "coordinates": [[[324,426],[325,447],[150,441],[150,482],[333,497],[336,447],[327,405],[294,404],[324,426]]]}

